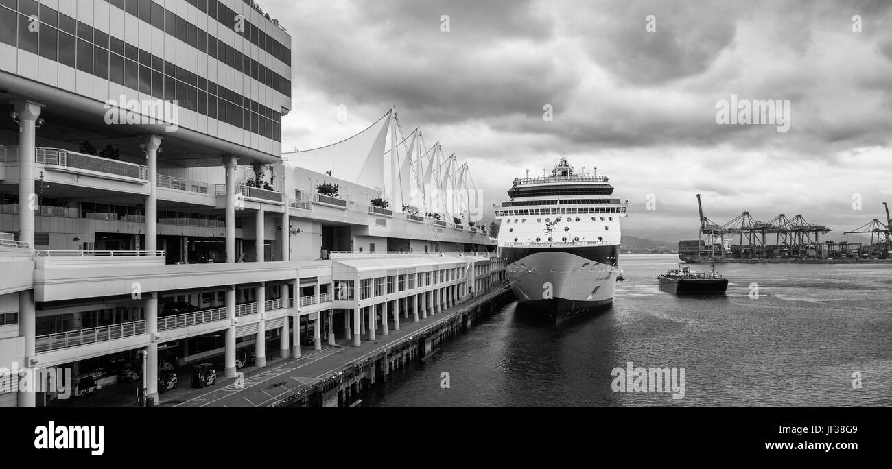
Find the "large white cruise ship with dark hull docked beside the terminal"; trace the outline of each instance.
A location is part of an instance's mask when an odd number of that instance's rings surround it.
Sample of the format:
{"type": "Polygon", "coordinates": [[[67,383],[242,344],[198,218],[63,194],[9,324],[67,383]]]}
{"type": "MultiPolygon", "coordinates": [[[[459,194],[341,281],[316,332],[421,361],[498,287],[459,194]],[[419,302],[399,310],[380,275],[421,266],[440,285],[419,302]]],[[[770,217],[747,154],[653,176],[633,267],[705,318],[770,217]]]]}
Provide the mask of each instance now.
{"type": "Polygon", "coordinates": [[[521,303],[551,315],[610,304],[628,201],[597,169],[576,174],[562,158],[549,176],[516,178],[496,210],[498,245],[521,303]]]}

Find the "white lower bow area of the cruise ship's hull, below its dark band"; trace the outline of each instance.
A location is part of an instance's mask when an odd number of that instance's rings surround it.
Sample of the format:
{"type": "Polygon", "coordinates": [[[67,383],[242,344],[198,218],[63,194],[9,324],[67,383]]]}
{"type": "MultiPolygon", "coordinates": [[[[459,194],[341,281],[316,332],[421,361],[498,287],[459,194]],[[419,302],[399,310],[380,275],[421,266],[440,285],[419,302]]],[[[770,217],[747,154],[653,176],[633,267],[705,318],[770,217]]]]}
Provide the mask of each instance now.
{"type": "Polygon", "coordinates": [[[517,300],[539,304],[542,300],[558,300],[562,309],[591,308],[613,300],[616,276],[620,273],[619,267],[569,252],[537,252],[515,264],[533,270],[512,285],[517,300]],[[585,264],[588,265],[582,267],[585,264]]]}

